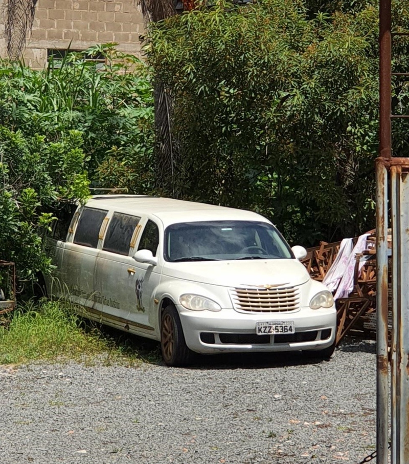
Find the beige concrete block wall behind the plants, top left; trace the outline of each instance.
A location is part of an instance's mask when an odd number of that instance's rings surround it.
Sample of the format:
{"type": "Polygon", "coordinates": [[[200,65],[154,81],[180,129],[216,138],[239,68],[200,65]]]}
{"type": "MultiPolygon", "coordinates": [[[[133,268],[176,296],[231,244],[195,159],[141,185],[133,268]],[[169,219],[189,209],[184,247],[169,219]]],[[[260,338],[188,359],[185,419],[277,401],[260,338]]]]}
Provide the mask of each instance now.
{"type": "MultiPolygon", "coordinates": [[[[7,0],[0,0],[5,18],[7,0]]],[[[47,49],[85,50],[95,44],[118,43],[118,50],[141,55],[142,13],[134,0],[38,0],[31,32],[22,54],[27,65],[47,64],[47,49]]],[[[7,56],[0,20],[0,56],[7,56]]]]}

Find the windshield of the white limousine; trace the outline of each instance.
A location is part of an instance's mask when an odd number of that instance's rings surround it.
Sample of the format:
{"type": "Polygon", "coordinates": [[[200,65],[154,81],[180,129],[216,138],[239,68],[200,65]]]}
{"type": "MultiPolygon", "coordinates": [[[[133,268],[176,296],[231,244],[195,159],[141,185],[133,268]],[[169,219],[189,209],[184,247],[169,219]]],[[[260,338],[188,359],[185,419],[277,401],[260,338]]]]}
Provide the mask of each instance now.
{"type": "Polygon", "coordinates": [[[165,259],[171,262],[294,258],[279,231],[265,222],[172,224],[165,243],[165,259]]]}

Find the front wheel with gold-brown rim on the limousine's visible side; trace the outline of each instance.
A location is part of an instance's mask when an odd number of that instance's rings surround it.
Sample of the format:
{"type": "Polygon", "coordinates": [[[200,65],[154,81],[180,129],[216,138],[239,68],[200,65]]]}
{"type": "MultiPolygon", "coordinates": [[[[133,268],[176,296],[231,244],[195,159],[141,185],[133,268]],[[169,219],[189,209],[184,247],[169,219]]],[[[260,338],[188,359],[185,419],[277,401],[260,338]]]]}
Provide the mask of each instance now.
{"type": "Polygon", "coordinates": [[[173,305],[167,306],[161,318],[161,349],[165,364],[184,366],[192,359],[180,324],[179,314],[173,305]]]}

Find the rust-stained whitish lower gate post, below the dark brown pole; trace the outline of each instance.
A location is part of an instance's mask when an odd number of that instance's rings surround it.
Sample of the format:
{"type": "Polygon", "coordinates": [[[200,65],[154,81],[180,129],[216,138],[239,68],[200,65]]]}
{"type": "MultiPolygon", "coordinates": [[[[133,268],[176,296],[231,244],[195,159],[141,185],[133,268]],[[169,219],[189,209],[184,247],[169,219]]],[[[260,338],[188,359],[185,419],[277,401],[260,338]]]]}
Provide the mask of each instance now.
{"type": "Polygon", "coordinates": [[[376,160],[376,454],[388,463],[388,171],[376,160]]]}

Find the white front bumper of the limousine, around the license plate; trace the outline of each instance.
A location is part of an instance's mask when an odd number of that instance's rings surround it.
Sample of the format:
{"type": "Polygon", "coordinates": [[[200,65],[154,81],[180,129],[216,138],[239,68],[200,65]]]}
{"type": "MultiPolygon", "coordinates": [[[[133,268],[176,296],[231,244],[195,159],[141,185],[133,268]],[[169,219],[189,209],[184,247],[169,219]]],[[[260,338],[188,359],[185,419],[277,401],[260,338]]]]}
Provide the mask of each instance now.
{"type": "Polygon", "coordinates": [[[336,310],[301,308],[288,313],[190,311],[178,305],[187,346],[197,353],[325,349],[335,341],[336,310]],[[294,334],[256,335],[256,322],[293,321],[294,334]]]}

